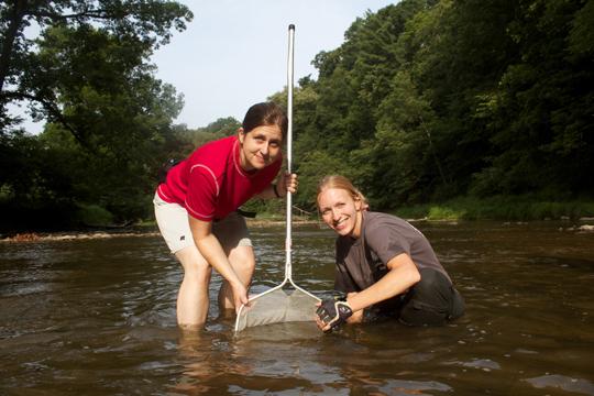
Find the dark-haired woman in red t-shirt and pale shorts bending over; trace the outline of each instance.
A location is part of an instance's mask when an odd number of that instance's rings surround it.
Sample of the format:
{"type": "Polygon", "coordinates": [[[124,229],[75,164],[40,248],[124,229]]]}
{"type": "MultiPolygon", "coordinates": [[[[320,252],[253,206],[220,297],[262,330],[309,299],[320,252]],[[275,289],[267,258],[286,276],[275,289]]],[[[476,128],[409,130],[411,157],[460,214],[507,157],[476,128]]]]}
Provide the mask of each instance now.
{"type": "Polygon", "coordinates": [[[248,302],[255,256],[245,220],[237,210],[250,198],[282,198],[297,176],[282,174],[287,117],[275,103],[252,106],[238,134],[207,143],[173,167],[154,199],[165,242],[184,266],[177,322],[201,327],[209,307],[211,270],[223,277],[220,309],[248,302]]]}

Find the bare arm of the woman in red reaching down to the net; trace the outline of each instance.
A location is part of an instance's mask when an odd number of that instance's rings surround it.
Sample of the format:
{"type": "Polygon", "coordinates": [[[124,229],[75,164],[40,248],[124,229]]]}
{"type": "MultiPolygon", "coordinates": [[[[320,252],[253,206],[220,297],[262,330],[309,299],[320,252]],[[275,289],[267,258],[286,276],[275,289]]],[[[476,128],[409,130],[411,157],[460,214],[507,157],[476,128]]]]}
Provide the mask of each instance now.
{"type": "Polygon", "coordinates": [[[238,310],[242,304],[248,302],[248,289],[233,271],[219,240],[212,233],[212,223],[195,219],[191,216],[188,218],[194,243],[206,261],[231,285],[235,310],[238,310]]]}

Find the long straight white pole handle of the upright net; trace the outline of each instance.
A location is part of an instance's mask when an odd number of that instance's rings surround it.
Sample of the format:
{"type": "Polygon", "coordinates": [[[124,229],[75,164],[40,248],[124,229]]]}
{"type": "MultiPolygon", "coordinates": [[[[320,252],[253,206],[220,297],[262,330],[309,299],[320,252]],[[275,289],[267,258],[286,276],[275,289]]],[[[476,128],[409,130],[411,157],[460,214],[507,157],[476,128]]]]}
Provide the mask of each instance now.
{"type": "MultiPolygon", "coordinates": [[[[295,44],[295,25],[289,24],[288,28],[288,61],[287,61],[287,172],[293,173],[293,57],[295,44]]],[[[285,282],[289,279],[293,283],[292,276],[292,218],[293,218],[293,195],[287,191],[287,237],[285,240],[285,282]]]]}

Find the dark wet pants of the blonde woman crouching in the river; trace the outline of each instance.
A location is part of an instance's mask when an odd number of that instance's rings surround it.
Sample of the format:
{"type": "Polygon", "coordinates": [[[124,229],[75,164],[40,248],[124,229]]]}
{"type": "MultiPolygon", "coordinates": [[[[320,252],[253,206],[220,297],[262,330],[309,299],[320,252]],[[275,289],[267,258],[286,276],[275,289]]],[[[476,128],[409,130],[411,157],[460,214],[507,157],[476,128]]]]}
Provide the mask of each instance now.
{"type": "Polygon", "coordinates": [[[464,314],[464,299],[439,271],[422,268],[421,279],[406,294],[386,301],[381,308],[383,314],[408,326],[440,326],[460,318],[464,314]]]}

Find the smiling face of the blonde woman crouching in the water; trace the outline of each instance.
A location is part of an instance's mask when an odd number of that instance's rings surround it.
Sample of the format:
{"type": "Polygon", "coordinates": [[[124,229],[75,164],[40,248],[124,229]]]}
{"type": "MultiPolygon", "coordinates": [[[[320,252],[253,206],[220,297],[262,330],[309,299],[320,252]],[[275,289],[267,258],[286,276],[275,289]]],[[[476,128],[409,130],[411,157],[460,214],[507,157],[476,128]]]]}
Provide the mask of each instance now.
{"type": "Polygon", "coordinates": [[[326,188],[318,195],[323,221],[339,235],[361,234],[361,201],[342,188],[326,188]]]}

